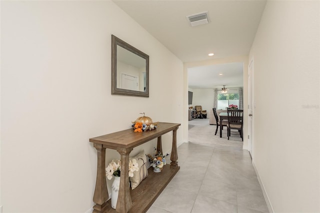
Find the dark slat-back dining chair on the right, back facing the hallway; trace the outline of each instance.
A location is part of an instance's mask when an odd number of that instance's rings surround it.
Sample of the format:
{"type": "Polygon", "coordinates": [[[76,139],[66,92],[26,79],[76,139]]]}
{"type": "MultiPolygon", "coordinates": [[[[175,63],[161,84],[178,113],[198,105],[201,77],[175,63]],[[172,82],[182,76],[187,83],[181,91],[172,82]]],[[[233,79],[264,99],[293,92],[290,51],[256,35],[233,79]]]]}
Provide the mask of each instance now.
{"type": "Polygon", "coordinates": [[[227,109],[227,115],[228,115],[228,124],[227,124],[228,140],[231,135],[231,129],[236,129],[240,133],[240,137],[243,141],[243,110],[227,109]]]}

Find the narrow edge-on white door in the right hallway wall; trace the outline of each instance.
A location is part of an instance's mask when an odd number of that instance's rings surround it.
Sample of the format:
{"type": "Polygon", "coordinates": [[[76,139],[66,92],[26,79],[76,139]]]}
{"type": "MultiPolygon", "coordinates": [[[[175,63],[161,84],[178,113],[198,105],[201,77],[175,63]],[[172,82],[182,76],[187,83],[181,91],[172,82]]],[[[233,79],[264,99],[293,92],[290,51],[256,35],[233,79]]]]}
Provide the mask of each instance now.
{"type": "Polygon", "coordinates": [[[253,59],[248,66],[248,151],[253,158],[253,59]]]}

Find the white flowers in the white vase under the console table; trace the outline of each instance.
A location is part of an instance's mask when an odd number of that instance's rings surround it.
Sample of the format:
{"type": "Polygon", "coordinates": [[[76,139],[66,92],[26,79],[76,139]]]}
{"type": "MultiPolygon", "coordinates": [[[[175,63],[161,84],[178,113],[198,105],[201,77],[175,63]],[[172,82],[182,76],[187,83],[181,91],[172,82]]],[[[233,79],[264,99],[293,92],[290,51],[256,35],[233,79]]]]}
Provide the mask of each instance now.
{"type": "MultiPolygon", "coordinates": [[[[120,160],[112,160],[107,168],[105,168],[105,176],[111,180],[112,176],[120,177],[120,160]]],[[[129,177],[133,177],[133,172],[138,171],[138,163],[135,159],[129,160],[129,177]]]]}

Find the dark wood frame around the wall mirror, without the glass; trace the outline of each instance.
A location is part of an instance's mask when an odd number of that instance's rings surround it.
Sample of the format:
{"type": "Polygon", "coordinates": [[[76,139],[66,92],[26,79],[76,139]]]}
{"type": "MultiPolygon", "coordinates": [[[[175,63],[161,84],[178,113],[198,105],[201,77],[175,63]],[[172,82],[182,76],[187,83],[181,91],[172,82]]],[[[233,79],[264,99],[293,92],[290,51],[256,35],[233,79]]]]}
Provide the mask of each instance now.
{"type": "Polygon", "coordinates": [[[114,35],[111,35],[111,94],[149,97],[149,56],[114,35]],[[145,59],[145,91],[128,90],[128,89],[122,89],[117,87],[116,78],[117,78],[117,47],[118,46],[145,59]]]}

